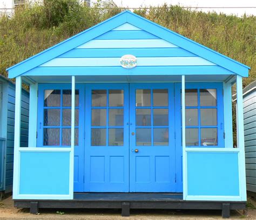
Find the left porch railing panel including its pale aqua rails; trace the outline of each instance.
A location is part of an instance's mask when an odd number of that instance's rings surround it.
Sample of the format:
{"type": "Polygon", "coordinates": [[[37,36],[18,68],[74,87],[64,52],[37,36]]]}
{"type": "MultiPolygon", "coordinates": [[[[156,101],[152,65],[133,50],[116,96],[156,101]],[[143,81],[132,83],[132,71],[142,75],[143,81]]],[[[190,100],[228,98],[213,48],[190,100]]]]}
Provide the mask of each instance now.
{"type": "Polygon", "coordinates": [[[15,199],[69,199],[70,148],[19,148],[15,199]]]}

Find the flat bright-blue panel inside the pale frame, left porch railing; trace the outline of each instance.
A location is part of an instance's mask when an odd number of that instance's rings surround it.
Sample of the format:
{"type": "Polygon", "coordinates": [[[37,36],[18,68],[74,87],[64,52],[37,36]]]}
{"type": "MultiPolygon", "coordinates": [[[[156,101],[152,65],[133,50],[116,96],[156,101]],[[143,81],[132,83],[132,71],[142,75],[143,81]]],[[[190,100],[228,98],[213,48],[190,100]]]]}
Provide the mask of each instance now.
{"type": "Polygon", "coordinates": [[[19,194],[69,194],[69,152],[21,152],[19,194]]]}

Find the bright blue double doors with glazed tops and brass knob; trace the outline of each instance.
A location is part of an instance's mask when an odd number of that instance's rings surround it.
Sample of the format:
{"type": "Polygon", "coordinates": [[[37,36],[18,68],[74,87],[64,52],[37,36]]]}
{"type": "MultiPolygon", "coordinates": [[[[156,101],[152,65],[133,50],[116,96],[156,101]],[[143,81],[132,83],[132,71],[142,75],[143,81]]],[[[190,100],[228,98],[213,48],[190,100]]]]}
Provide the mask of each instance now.
{"type": "Polygon", "coordinates": [[[173,83],[86,84],[84,191],[178,191],[174,118],[173,83]]]}

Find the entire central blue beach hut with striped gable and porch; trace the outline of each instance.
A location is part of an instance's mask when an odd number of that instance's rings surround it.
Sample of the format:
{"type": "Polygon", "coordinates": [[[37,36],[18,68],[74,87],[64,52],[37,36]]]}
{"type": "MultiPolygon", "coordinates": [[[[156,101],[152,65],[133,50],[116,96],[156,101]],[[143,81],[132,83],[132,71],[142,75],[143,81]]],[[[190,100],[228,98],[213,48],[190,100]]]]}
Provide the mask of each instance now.
{"type": "Polygon", "coordinates": [[[15,207],[122,208],[124,216],[222,209],[224,217],[245,208],[248,69],[130,11],[10,67],[15,207]],[[29,147],[19,145],[22,82],[30,86],[29,147]]]}

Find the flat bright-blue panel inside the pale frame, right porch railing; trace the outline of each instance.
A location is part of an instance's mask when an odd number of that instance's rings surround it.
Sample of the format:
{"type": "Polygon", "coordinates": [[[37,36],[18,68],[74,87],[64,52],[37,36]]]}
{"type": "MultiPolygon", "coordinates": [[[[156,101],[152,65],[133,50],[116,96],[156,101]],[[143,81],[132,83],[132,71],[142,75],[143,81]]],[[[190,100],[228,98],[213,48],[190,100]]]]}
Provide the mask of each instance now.
{"type": "Polygon", "coordinates": [[[188,152],[190,196],[239,196],[238,153],[188,152]]]}

